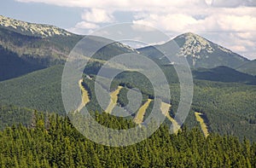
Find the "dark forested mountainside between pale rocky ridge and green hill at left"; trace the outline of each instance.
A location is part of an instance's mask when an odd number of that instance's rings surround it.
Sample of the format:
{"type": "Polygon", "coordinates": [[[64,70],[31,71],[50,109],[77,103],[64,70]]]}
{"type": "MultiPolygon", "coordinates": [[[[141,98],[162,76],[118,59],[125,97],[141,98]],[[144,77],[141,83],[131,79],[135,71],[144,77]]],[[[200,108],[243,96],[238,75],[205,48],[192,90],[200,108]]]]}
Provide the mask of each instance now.
{"type": "Polygon", "coordinates": [[[0,27],[0,81],[63,64],[79,37],[38,38],[0,27]]]}

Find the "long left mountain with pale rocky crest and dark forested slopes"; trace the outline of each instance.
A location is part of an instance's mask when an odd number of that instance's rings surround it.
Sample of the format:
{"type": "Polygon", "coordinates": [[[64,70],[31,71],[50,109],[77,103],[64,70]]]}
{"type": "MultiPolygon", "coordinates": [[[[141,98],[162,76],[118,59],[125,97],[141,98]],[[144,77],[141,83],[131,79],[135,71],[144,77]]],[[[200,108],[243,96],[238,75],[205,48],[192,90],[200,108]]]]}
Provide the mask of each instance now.
{"type": "MultiPolygon", "coordinates": [[[[27,23],[0,16],[0,81],[19,77],[45,67],[63,65],[75,44],[84,36],[55,26],[27,23]]],[[[84,48],[97,47],[103,38],[90,38],[84,48]]],[[[94,55],[100,60],[111,56],[137,52],[136,49],[112,43],[94,55]]]]}

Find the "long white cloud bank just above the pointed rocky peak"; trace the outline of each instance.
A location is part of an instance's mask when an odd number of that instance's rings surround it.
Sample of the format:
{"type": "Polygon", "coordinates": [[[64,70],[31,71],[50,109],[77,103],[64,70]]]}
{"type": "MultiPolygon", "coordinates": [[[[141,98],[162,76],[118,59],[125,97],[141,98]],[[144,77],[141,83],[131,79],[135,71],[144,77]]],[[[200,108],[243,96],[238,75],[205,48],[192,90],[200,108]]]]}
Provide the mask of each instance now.
{"type": "Polygon", "coordinates": [[[134,23],[158,27],[167,32],[254,32],[256,17],[211,14],[196,20],[189,14],[148,14],[134,23]]]}

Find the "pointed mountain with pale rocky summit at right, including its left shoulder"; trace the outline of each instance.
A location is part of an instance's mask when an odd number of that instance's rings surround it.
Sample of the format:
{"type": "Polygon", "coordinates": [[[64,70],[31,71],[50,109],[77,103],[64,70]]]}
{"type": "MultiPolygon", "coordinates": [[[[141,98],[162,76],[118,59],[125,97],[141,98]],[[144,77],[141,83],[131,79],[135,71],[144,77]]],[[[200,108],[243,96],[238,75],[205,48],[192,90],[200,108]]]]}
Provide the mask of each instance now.
{"type": "MultiPolygon", "coordinates": [[[[184,33],[172,40],[174,40],[180,47],[179,55],[185,56],[190,67],[193,68],[212,68],[218,66],[236,68],[249,62],[246,58],[242,57],[241,55],[237,55],[230,49],[225,49],[217,43],[212,43],[206,38],[202,38],[201,36],[191,32],[184,33]]],[[[148,55],[154,59],[160,60],[162,64],[168,64],[170,62],[163,59],[163,55],[160,53],[160,51],[155,49],[155,47],[168,47],[168,43],[171,42],[161,45],[148,46],[137,50],[144,55],[148,55]]]]}

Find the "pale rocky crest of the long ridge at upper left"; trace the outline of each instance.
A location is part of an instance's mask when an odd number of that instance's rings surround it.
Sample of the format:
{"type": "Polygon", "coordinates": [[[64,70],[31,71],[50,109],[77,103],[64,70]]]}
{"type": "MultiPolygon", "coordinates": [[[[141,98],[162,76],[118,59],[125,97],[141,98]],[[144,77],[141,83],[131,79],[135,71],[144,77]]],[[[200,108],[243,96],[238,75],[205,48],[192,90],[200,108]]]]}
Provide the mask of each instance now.
{"type": "Polygon", "coordinates": [[[34,24],[25,21],[14,20],[9,17],[0,15],[0,27],[9,29],[10,31],[18,32],[28,36],[37,36],[40,38],[47,38],[53,36],[71,36],[67,32],[56,26],[49,26],[44,24],[34,24]]]}

